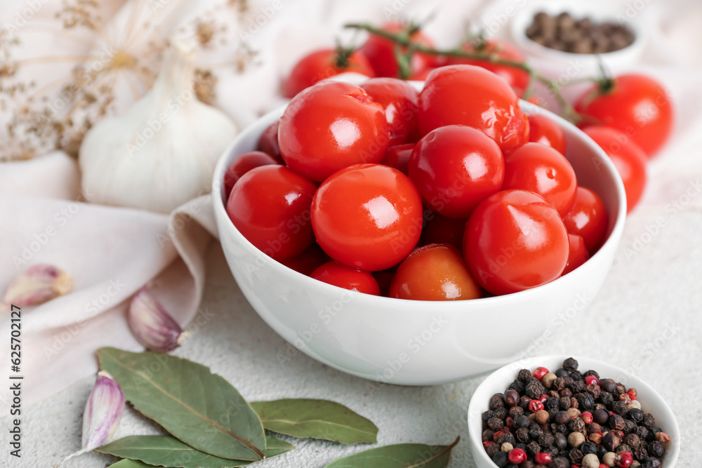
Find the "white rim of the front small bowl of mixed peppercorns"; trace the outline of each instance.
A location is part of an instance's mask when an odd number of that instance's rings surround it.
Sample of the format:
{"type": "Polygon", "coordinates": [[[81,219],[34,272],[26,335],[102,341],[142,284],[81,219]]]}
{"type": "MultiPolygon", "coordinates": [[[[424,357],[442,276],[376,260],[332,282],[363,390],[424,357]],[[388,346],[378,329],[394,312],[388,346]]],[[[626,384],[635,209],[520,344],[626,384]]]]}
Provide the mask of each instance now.
{"type": "MultiPolygon", "coordinates": [[[[488,457],[482,445],[482,418],[480,415],[482,415],[483,411],[479,410],[479,408],[484,408],[484,410],[487,410],[489,396],[487,399],[478,401],[478,399],[475,398],[475,395],[478,394],[478,396],[480,396],[479,394],[484,392],[486,387],[496,383],[498,377],[502,378],[502,374],[507,373],[508,369],[514,371],[514,378],[516,378],[517,372],[521,368],[532,370],[537,366],[549,366],[550,362],[562,362],[569,357],[572,357],[578,361],[579,368],[587,367],[597,370],[597,372],[600,372],[600,368],[612,368],[618,370],[620,372],[619,375],[627,375],[628,379],[631,380],[627,387],[635,387],[637,390],[644,389],[646,393],[646,398],[644,401],[648,401],[647,404],[651,406],[651,409],[654,409],[656,413],[666,413],[667,417],[673,421],[673,427],[661,429],[665,429],[665,433],[670,435],[670,445],[668,448],[666,448],[664,466],[666,468],[675,467],[675,464],[680,457],[680,448],[682,446],[682,441],[680,440],[680,424],[678,424],[675,413],[673,413],[673,410],[670,409],[668,402],[663,399],[663,396],[656,392],[656,389],[651,387],[651,385],[649,385],[641,377],[628,373],[625,369],[619,366],[615,366],[614,364],[607,363],[605,361],[600,361],[599,359],[592,359],[587,356],[571,356],[569,354],[544,354],[543,356],[532,356],[526,359],[512,361],[505,364],[505,366],[492,371],[482,382],[480,382],[480,385],[476,387],[475,391],[470,397],[470,403],[468,403],[468,439],[470,441],[472,448],[471,453],[475,462],[482,461],[491,464],[491,466],[497,466],[492,462],[490,457],[488,457]]],[[[605,375],[605,378],[608,378],[607,375],[605,375]]],[[[504,383],[506,389],[510,382],[504,383]]]]}

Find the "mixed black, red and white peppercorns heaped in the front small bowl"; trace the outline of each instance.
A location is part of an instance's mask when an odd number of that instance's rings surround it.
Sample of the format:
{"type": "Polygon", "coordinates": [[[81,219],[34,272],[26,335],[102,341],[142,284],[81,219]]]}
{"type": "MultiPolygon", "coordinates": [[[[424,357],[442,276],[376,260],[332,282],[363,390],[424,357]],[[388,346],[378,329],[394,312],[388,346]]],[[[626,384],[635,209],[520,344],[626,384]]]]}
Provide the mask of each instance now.
{"type": "Polygon", "coordinates": [[[501,468],[659,468],[670,442],[636,389],[581,373],[573,358],[554,373],[519,370],[482,420],[483,446],[501,468]]]}

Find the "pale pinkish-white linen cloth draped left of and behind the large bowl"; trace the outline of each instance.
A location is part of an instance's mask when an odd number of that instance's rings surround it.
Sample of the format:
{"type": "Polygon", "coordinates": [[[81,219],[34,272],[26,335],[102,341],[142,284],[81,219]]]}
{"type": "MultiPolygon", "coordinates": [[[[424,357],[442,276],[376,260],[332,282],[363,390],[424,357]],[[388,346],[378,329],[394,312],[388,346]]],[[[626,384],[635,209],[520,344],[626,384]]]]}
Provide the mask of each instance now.
{"type": "MultiPolygon", "coordinates": [[[[13,18],[13,6],[25,5],[23,1],[3,3],[0,24],[13,18]]],[[[493,2],[484,3],[495,8],[493,2]]],[[[505,7],[523,3],[501,2],[505,7]]],[[[130,2],[123,8],[128,6],[130,2]]],[[[260,52],[260,66],[243,75],[220,76],[217,105],[244,126],[283,102],[279,79],[304,53],[333,45],[333,37],[345,22],[378,24],[405,17],[425,19],[433,13],[425,31],[440,46],[450,46],[482,6],[479,1],[453,0],[252,2],[253,18],[258,12],[265,16],[270,11],[266,8],[274,11],[251,39],[260,52]]],[[[669,215],[670,204],[677,203],[677,212],[692,214],[685,218],[690,218],[692,228],[697,223],[694,211],[702,206],[698,149],[702,142],[702,6],[692,0],[651,2],[640,14],[649,26],[650,41],[637,69],[668,87],[677,122],[670,144],[651,161],[649,188],[633,217],[645,227],[669,215]]],[[[350,32],[341,35],[353,36],[350,32]]],[[[196,314],[201,299],[203,254],[216,235],[208,196],[185,203],[170,216],[159,215],[77,202],[79,178],[76,162],[60,152],[0,164],[4,220],[0,223],[0,289],[23,268],[39,262],[61,267],[75,280],[69,295],[22,311],[21,374],[31,380],[23,394],[25,404],[95,373],[94,351],[99,347],[141,349],[128,330],[125,313],[128,299],[145,283],[152,283],[159,300],[183,326],[196,314]]],[[[690,236],[680,243],[699,240],[698,232],[690,236]]],[[[656,253],[643,248],[636,255],[656,253]]],[[[632,267],[640,263],[632,262],[632,267]]],[[[0,337],[8,336],[8,321],[4,320],[0,337]]],[[[8,361],[8,348],[3,346],[0,363],[8,361]]],[[[6,378],[7,374],[3,366],[0,375],[6,378]]],[[[8,396],[3,387],[0,400],[8,396]]]]}

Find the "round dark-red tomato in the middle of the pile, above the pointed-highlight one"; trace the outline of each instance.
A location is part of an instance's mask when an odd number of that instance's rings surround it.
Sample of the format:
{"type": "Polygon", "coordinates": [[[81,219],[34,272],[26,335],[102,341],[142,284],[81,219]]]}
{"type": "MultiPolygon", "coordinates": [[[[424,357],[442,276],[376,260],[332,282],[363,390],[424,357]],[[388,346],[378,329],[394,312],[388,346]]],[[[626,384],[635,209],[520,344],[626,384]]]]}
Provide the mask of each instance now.
{"type": "Polygon", "coordinates": [[[500,191],[505,160],[497,143],[482,131],[449,125],[419,140],[408,170],[433,211],[449,218],[468,218],[478,203],[500,191]]]}

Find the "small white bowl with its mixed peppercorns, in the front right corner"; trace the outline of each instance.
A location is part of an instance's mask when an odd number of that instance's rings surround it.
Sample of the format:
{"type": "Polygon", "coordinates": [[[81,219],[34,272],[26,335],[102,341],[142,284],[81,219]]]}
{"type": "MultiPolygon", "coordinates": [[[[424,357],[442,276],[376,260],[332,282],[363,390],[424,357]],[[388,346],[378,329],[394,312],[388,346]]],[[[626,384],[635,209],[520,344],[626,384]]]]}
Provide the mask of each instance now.
{"type": "Polygon", "coordinates": [[[675,415],[653,388],[581,357],[496,370],[470,400],[468,432],[478,468],[673,468],[680,455],[675,415]]]}

